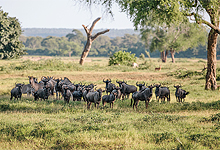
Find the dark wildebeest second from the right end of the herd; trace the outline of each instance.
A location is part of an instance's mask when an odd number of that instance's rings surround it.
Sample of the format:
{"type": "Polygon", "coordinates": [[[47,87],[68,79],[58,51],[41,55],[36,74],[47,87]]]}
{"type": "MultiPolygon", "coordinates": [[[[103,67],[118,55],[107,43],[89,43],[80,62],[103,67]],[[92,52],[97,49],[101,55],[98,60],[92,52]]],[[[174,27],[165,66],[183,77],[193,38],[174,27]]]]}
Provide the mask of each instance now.
{"type": "Polygon", "coordinates": [[[167,101],[170,102],[170,90],[168,87],[161,87],[161,84],[155,84],[154,87],[155,89],[155,95],[156,95],[156,100],[161,99],[161,101],[165,101],[165,98],[167,98],[167,101]]]}

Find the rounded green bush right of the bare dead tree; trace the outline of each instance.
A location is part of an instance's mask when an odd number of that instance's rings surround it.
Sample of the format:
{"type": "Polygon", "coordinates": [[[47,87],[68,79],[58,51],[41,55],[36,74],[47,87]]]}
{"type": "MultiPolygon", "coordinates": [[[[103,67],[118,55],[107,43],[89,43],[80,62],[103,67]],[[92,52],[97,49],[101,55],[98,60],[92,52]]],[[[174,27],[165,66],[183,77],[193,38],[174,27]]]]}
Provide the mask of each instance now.
{"type": "Polygon", "coordinates": [[[129,52],[116,52],[109,58],[109,66],[111,65],[127,65],[131,66],[133,62],[136,62],[137,57],[135,54],[129,52]]]}

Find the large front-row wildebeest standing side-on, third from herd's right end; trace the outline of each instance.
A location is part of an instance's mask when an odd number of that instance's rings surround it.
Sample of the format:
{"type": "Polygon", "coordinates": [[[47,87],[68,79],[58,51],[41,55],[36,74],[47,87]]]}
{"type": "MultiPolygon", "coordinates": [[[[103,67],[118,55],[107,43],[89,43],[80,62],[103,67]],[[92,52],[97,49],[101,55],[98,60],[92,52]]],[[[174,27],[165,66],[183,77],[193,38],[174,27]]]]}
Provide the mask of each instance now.
{"type": "Polygon", "coordinates": [[[153,88],[154,88],[154,86],[150,85],[145,90],[137,91],[137,92],[134,92],[132,94],[132,99],[134,100],[133,109],[134,109],[134,106],[137,109],[137,105],[139,103],[139,100],[140,101],[145,101],[145,106],[146,106],[146,109],[147,109],[148,104],[150,102],[150,99],[152,98],[152,95],[153,95],[153,92],[152,92],[153,88]]]}

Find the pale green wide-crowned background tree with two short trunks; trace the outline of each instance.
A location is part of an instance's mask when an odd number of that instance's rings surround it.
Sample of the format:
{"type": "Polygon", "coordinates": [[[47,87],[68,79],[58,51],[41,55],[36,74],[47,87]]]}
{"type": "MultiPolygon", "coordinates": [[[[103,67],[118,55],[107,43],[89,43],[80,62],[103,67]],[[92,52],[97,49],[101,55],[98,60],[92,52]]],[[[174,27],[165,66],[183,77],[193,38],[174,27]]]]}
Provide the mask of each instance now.
{"type": "Polygon", "coordinates": [[[166,62],[168,52],[170,52],[174,63],[175,52],[186,51],[199,44],[204,45],[206,33],[205,27],[185,20],[178,25],[171,24],[170,26],[141,29],[141,38],[145,41],[145,45],[150,45],[151,52],[155,50],[161,52],[162,62],[166,62]]]}

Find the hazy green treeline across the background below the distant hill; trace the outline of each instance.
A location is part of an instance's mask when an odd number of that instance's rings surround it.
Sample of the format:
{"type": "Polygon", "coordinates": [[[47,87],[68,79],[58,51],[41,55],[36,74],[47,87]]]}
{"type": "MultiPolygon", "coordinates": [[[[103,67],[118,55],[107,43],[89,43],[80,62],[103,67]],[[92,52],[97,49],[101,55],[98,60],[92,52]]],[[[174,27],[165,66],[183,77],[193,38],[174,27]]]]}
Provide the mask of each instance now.
{"type": "MultiPolygon", "coordinates": [[[[79,30],[73,30],[66,36],[21,36],[20,40],[25,45],[28,55],[46,55],[46,56],[80,56],[86,43],[86,36],[79,30]]],[[[139,57],[146,55],[144,42],[137,34],[125,34],[110,38],[108,36],[98,37],[92,44],[89,56],[109,57],[118,51],[126,51],[139,57]]],[[[217,47],[217,55],[220,54],[220,47],[217,47]]],[[[146,55],[147,56],[147,55],[146,55]]],[[[160,57],[160,52],[150,53],[150,57],[160,57]]],[[[207,58],[206,46],[198,46],[194,49],[188,49],[175,54],[176,58],[207,58]]]]}

